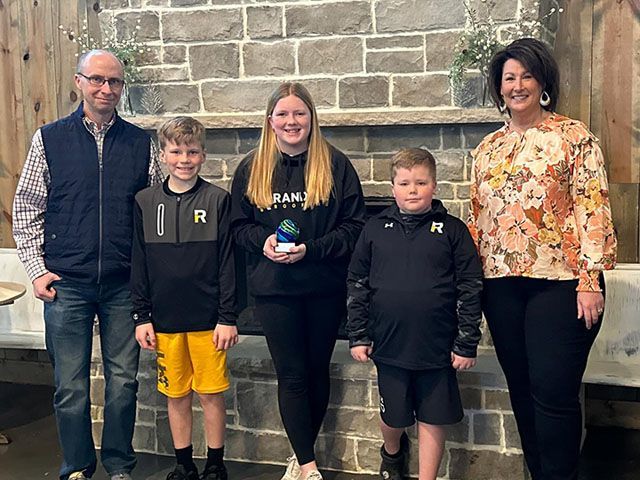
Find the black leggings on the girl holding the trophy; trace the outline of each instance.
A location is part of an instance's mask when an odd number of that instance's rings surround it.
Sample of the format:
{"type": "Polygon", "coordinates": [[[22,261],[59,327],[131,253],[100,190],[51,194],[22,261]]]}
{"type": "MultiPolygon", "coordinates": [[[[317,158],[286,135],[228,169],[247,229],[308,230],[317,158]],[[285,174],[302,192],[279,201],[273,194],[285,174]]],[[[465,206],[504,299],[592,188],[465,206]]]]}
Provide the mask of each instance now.
{"type": "Polygon", "coordinates": [[[329,404],[329,362],[344,318],[346,295],[256,297],[278,377],[282,423],[300,465],[314,444],[329,404]]]}

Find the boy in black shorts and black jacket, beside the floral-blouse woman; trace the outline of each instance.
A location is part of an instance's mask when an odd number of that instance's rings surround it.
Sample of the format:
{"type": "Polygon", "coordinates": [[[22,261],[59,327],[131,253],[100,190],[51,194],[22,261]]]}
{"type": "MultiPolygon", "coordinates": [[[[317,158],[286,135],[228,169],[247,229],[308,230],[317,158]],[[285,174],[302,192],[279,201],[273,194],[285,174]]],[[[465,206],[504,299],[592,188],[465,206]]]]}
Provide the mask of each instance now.
{"type": "Polygon", "coordinates": [[[391,182],[396,205],[367,222],[349,265],[347,333],[378,371],[382,478],[404,478],[417,419],[419,479],[434,480],[443,425],[463,417],[455,372],[476,362],[482,269],[466,225],[433,199],[428,151],[399,151],[391,182]]]}

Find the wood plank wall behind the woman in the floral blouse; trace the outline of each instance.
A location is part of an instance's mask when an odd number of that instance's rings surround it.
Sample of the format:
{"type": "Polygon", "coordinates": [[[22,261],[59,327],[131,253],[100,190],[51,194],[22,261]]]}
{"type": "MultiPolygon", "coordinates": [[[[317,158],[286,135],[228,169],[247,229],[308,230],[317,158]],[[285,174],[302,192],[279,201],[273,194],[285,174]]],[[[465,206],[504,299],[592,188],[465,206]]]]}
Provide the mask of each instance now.
{"type": "Polygon", "coordinates": [[[607,159],[619,262],[640,261],[640,2],[564,0],[558,110],[590,125],[607,159]]]}

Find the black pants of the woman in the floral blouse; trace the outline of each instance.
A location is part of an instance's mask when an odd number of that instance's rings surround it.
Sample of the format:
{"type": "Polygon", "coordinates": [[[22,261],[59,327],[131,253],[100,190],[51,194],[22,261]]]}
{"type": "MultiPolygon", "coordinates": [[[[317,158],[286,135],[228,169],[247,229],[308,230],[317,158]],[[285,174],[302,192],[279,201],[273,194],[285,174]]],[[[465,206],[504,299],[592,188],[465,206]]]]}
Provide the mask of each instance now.
{"type": "Polygon", "coordinates": [[[580,384],[600,322],[587,330],[578,320],[577,285],[523,277],[484,281],[483,311],[534,480],[578,478],[580,384]]]}

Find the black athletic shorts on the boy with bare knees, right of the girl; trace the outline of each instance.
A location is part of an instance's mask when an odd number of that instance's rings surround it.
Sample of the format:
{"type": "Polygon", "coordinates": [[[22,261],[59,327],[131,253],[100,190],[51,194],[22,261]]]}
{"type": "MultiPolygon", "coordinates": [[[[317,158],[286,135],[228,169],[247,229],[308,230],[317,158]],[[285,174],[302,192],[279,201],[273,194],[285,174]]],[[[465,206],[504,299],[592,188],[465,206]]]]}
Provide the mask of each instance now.
{"type": "Polygon", "coordinates": [[[456,371],[408,370],[376,363],[380,416],[390,427],[404,428],[419,422],[449,425],[462,420],[462,402],[456,371]]]}

